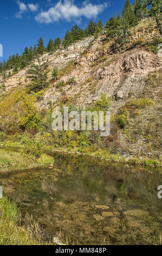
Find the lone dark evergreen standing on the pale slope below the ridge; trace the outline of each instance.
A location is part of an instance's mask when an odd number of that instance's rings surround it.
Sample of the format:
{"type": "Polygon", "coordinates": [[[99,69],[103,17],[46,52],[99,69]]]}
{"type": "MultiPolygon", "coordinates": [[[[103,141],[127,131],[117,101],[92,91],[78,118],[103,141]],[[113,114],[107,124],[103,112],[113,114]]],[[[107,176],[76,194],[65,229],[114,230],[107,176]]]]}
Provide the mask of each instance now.
{"type": "Polygon", "coordinates": [[[38,92],[48,86],[48,72],[48,62],[37,58],[37,64],[31,65],[27,71],[27,77],[31,79],[31,83],[27,85],[29,92],[38,92]]]}

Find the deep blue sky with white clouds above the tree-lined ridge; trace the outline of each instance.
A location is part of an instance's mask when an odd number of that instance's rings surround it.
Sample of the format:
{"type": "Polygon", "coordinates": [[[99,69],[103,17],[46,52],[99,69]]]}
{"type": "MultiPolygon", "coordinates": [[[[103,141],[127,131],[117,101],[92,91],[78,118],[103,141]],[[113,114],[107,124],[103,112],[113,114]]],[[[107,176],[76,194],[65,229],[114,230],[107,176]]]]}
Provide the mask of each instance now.
{"type": "MultiPolygon", "coordinates": [[[[63,38],[74,25],[86,28],[89,20],[103,24],[116,13],[122,13],[126,0],[1,0],[1,37],[3,57],[22,53],[24,47],[37,43],[42,36],[47,45],[50,38],[63,38]]],[[[133,0],[130,1],[133,3],[133,0]]]]}

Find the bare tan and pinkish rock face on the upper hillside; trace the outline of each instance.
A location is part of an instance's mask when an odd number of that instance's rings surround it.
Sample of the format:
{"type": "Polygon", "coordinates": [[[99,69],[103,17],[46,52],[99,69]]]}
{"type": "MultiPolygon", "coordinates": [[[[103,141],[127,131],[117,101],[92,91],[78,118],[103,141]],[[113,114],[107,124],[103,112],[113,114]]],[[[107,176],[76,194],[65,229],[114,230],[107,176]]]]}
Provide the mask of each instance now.
{"type": "MultiPolygon", "coordinates": [[[[150,36],[149,33],[141,29],[131,40],[134,42],[136,37],[142,38],[142,36],[146,38],[146,35],[150,36]]],[[[69,78],[74,77],[76,85],[66,84],[63,91],[70,99],[75,100],[76,106],[95,102],[103,93],[121,104],[130,94],[141,93],[150,72],[159,71],[162,68],[162,58],[158,57],[158,54],[147,52],[140,47],[129,47],[127,51],[112,53],[109,51],[110,44],[105,44],[104,40],[104,36],[96,40],[91,37],[66,49],[57,50],[54,54],[46,53],[42,57],[49,62],[49,81],[52,81],[51,71],[54,66],[61,70],[73,60],[74,69],[68,73],[65,72],[60,80],[66,83],[69,78]],[[92,46],[88,48],[92,41],[92,46]]],[[[30,82],[27,78],[28,68],[21,70],[4,82],[7,91],[30,82]]],[[[2,83],[0,76],[0,85],[2,83]]],[[[53,82],[44,93],[39,106],[40,108],[49,108],[49,102],[52,104],[58,102],[61,97],[61,90],[56,88],[56,82],[53,82]]],[[[113,110],[115,111],[115,104],[113,110]]]]}

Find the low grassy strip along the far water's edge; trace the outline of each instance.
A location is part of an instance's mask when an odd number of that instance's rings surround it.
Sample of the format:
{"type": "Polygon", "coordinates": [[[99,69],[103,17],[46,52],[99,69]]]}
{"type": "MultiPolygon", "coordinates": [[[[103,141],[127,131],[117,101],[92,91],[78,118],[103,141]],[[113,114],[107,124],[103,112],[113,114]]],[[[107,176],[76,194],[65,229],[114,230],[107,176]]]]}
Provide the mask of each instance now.
{"type": "Polygon", "coordinates": [[[41,149],[39,157],[34,156],[33,154],[23,153],[20,144],[10,144],[4,142],[3,148],[1,148],[0,156],[0,171],[8,170],[18,170],[18,169],[31,169],[38,167],[49,167],[52,168],[54,164],[54,159],[52,156],[48,155],[47,151],[50,153],[64,153],[64,154],[75,154],[77,156],[88,156],[93,157],[98,160],[119,163],[119,164],[132,164],[133,166],[144,166],[144,167],[161,167],[161,161],[155,159],[149,159],[147,157],[122,157],[119,154],[109,154],[106,150],[96,150],[90,151],[90,149],[85,149],[77,151],[78,149],[69,150],[65,148],[54,149],[51,147],[44,147],[41,149]],[[13,149],[7,151],[7,149],[13,149]],[[18,149],[18,151],[14,151],[18,149]]]}

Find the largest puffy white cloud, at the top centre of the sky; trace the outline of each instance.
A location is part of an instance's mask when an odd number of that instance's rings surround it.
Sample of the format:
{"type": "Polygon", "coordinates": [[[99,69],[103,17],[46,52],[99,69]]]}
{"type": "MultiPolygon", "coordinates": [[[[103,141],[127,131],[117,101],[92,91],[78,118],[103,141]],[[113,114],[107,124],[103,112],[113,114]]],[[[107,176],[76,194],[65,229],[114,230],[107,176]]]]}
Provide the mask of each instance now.
{"type": "Polygon", "coordinates": [[[88,19],[97,17],[103,12],[105,8],[109,6],[109,2],[102,4],[92,4],[89,1],[82,3],[82,7],[77,7],[73,0],[60,0],[54,7],[48,9],[48,11],[41,11],[36,15],[35,20],[39,23],[52,23],[64,19],[70,21],[72,19],[79,19],[82,16],[88,19]]]}

